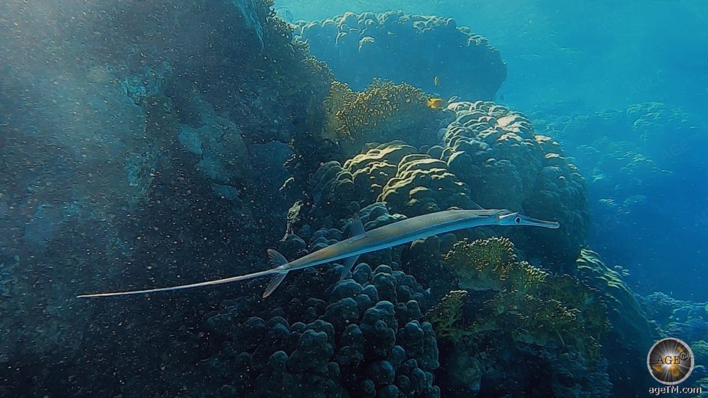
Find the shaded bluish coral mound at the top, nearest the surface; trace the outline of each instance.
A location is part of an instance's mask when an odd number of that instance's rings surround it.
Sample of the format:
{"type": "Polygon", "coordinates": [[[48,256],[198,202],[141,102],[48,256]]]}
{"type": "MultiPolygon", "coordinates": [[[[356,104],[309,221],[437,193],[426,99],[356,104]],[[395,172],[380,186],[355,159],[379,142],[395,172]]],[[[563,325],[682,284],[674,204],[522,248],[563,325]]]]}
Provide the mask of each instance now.
{"type": "Polygon", "coordinates": [[[445,97],[491,99],[506,79],[506,64],[498,50],[452,18],[400,11],[345,13],[302,22],[297,33],[338,80],[354,89],[382,77],[445,97]]]}

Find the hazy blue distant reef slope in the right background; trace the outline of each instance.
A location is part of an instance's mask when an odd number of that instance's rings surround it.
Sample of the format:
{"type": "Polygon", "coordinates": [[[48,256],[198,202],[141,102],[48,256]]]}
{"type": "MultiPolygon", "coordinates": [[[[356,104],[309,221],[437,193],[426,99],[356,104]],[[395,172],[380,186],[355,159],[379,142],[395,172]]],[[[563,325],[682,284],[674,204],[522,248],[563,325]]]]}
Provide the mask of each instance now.
{"type": "MultiPolygon", "coordinates": [[[[675,263],[676,272],[690,275],[691,267],[681,264],[702,261],[691,254],[692,241],[702,239],[705,229],[678,221],[694,219],[696,209],[706,207],[685,179],[708,172],[701,160],[707,126],[700,115],[666,103],[637,103],[592,113],[564,107],[537,113],[534,120],[538,131],[564,145],[587,178],[593,214],[588,240],[603,247],[607,263],[629,268],[632,280],[641,280],[642,294],[699,291],[697,278],[666,280],[646,264],[675,263]],[[680,261],[677,253],[683,254],[680,261]]],[[[704,224],[704,214],[698,217],[704,224]]]]}

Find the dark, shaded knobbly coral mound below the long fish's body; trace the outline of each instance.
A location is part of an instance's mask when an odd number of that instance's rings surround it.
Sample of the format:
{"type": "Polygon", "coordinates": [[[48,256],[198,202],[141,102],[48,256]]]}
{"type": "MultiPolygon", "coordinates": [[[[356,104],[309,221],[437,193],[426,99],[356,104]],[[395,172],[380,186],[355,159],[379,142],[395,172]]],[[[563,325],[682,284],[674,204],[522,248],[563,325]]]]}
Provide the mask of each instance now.
{"type": "Polygon", "coordinates": [[[225,302],[207,319],[221,348],[197,372],[239,397],[440,396],[431,373],[440,365],[435,332],[420,320],[427,295],[414,278],[360,263],[352,280],[326,283],[335,268],[315,277],[330,288],[314,288],[314,273],[286,286],[278,307],[225,302]]]}

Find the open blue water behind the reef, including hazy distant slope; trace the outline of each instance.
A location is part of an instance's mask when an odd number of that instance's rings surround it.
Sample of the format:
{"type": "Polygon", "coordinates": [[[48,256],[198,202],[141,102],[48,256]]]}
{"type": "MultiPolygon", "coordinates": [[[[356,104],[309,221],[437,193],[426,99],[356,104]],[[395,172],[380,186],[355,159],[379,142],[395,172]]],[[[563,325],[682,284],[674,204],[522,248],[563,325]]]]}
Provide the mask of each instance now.
{"type": "Polygon", "coordinates": [[[496,101],[532,115],[588,180],[590,245],[629,271],[636,292],[708,300],[708,2],[281,0],[276,8],[291,21],[400,9],[452,17],[486,36],[508,67],[496,101]],[[624,114],[649,101],[667,111],[646,111],[656,120],[636,128],[624,114]],[[646,130],[652,140],[641,139],[646,130]],[[586,147],[607,154],[620,141],[618,157],[636,152],[670,174],[624,172],[627,161],[593,169],[586,147]],[[607,210],[607,200],[621,210],[607,210]]]}

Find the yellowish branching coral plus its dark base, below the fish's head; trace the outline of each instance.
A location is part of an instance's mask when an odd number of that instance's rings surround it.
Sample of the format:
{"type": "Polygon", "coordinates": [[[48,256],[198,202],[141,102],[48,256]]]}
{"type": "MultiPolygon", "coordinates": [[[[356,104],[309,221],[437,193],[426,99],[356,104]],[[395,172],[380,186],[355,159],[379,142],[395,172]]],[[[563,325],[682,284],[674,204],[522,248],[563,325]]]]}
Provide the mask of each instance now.
{"type": "Polygon", "coordinates": [[[520,261],[506,238],[457,241],[444,262],[467,290],[448,293],[424,317],[440,339],[443,393],[595,397],[611,390],[599,292],[520,261]],[[517,363],[545,365],[517,373],[517,363]],[[536,377],[547,382],[531,392],[526,386],[536,377]]]}

